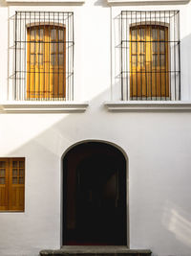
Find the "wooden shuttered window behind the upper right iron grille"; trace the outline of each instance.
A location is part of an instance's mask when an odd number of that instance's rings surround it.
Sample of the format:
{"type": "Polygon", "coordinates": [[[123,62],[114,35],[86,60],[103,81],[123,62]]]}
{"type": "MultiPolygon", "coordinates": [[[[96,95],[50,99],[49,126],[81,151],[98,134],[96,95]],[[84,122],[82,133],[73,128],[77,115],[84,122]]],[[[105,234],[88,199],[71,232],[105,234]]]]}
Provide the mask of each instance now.
{"type": "Polygon", "coordinates": [[[168,28],[130,28],[130,98],[169,97],[168,28]]]}

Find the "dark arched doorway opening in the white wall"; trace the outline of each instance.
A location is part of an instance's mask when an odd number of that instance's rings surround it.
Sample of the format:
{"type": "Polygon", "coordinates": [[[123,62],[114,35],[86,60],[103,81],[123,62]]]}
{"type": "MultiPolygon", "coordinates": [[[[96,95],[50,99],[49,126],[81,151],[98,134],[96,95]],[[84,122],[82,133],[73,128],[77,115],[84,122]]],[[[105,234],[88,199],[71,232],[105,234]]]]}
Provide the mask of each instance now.
{"type": "Polygon", "coordinates": [[[74,146],[63,158],[64,245],[127,245],[126,159],[104,142],[74,146]]]}

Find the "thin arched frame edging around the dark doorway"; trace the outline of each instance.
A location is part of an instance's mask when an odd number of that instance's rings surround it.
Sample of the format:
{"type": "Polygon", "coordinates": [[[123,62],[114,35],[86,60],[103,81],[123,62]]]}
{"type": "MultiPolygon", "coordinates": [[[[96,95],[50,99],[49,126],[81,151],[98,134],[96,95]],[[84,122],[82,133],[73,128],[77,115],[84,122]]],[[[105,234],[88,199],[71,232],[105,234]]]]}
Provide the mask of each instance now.
{"type": "Polygon", "coordinates": [[[86,139],[86,140],[82,140],[82,141],[77,141],[74,144],[72,144],[70,147],[67,148],[66,151],[63,152],[62,156],[61,156],[61,170],[60,170],[60,247],[63,246],[62,242],[63,242],[63,225],[62,225],[62,221],[63,221],[63,173],[64,173],[64,169],[63,169],[63,159],[65,157],[65,155],[71,151],[75,146],[84,144],[84,143],[88,143],[88,142],[97,142],[97,143],[103,143],[103,144],[108,144],[113,146],[114,148],[116,148],[118,151],[121,151],[121,153],[123,154],[125,161],[126,161],[126,218],[127,218],[127,222],[126,222],[126,232],[127,232],[127,247],[129,248],[129,244],[130,244],[130,236],[129,236],[129,232],[130,232],[130,221],[129,221],[129,158],[127,156],[126,151],[124,151],[120,146],[118,146],[116,143],[113,143],[111,141],[105,141],[105,140],[98,140],[98,139],[86,139]]]}

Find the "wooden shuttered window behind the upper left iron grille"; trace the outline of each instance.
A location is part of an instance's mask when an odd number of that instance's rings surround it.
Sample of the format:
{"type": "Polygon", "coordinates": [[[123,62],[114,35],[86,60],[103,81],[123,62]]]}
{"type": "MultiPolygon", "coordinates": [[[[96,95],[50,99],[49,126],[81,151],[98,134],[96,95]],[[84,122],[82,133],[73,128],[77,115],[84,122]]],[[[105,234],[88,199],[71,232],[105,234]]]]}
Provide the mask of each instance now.
{"type": "Polygon", "coordinates": [[[27,99],[65,99],[65,27],[28,28],[27,99]]]}

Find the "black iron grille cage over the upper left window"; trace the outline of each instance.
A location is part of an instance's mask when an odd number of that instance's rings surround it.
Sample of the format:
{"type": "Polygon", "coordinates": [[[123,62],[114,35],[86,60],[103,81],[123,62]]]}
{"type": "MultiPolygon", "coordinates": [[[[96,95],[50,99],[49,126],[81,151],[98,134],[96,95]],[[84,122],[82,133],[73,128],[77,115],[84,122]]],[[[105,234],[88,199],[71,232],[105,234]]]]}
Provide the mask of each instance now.
{"type": "Polygon", "coordinates": [[[74,100],[74,13],[15,12],[11,94],[18,101],[74,100]]]}

